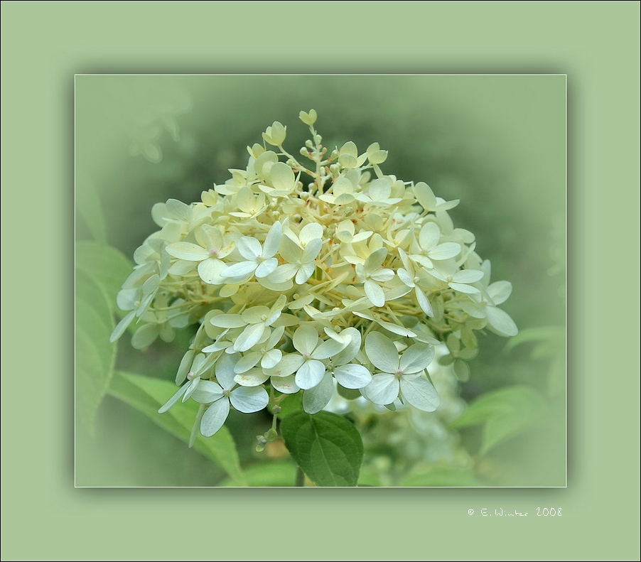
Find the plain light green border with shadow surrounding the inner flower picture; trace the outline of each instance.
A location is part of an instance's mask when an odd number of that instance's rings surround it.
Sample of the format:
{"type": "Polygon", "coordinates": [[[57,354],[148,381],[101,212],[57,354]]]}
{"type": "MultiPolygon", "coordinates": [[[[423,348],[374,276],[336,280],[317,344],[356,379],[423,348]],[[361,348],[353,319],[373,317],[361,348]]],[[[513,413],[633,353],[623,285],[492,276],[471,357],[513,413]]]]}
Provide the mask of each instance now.
{"type": "Polygon", "coordinates": [[[3,560],[638,559],[639,5],[361,4],[1,4],[3,560]],[[568,487],[75,489],[82,72],[567,73],[568,487]]]}

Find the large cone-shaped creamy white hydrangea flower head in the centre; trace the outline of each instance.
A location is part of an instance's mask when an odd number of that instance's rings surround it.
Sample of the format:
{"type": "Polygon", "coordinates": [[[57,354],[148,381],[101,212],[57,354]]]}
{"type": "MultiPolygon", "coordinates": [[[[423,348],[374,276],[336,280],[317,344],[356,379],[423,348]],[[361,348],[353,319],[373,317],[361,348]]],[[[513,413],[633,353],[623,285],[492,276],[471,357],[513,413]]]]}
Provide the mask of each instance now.
{"type": "Polygon", "coordinates": [[[298,391],[310,414],[335,389],[433,411],[434,345],[446,342],[460,370],[477,351],[474,330],[517,333],[497,308],[510,283],[490,283],[473,234],[453,227],[458,200],[384,174],[377,143],[328,153],[316,112],[300,117],[311,164],[285,151],[274,122],[263,139],[275,149],[249,146],[247,167],[199,202],[154,205],[161,229],[136,249],[118,294],[129,313],[112,340],[134,320],[138,348],[198,326],[176,375],[184,384],[159,410],[201,404],[193,438],[218,431],[231,406],[259,411],[298,391]]]}

